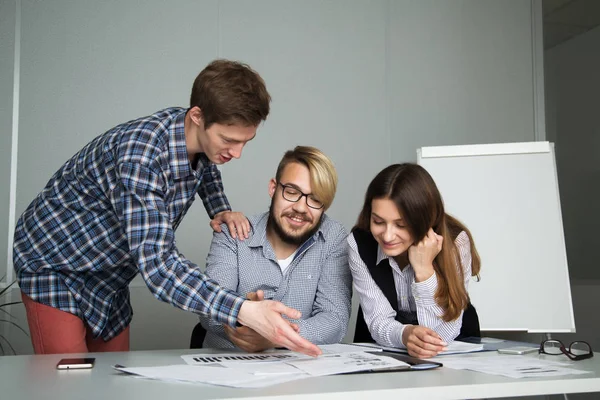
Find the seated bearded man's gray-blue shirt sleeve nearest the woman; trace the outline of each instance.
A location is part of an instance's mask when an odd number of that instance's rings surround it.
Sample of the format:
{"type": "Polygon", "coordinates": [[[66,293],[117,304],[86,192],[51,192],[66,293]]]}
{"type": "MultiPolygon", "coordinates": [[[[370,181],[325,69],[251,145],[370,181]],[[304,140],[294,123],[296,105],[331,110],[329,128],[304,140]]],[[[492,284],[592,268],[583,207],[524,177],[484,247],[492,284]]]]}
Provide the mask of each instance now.
{"type": "Polygon", "coordinates": [[[345,230],[339,232],[322,265],[310,318],[294,320],[300,327],[300,335],[312,343],[339,343],[348,329],[352,275],[346,236],[345,230]]]}

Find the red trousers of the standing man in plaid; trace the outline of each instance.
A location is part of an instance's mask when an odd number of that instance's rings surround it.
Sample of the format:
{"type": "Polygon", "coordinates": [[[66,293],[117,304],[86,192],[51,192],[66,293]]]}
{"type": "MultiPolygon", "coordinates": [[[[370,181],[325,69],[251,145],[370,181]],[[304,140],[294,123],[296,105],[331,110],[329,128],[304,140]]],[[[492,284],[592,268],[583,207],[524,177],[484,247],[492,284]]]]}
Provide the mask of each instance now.
{"type": "Polygon", "coordinates": [[[129,351],[129,327],[108,342],[94,339],[77,316],[34,301],[21,293],[35,354],[129,351]]]}

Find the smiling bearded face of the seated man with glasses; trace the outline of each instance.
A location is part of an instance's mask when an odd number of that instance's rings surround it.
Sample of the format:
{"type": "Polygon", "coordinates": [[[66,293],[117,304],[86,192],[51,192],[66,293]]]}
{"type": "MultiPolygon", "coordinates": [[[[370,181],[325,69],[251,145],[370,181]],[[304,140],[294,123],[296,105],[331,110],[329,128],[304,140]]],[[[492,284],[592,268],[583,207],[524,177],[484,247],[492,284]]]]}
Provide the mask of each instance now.
{"type": "Polygon", "coordinates": [[[269,182],[269,230],[285,243],[300,245],[319,229],[323,209],[308,207],[305,196],[297,202],[286,200],[282,185],[310,196],[312,187],[308,168],[292,162],[283,170],[279,182],[275,179],[269,182]]]}

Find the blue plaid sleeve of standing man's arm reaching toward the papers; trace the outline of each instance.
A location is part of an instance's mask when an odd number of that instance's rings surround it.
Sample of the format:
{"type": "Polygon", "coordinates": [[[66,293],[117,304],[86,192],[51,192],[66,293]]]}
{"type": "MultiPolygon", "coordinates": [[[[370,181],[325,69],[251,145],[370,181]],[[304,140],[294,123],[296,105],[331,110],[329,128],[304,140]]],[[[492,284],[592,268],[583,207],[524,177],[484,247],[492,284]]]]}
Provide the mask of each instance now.
{"type": "Polygon", "coordinates": [[[119,166],[113,206],[130,255],[154,296],[183,310],[235,326],[244,299],[219,287],[179,254],[164,200],[161,172],[140,163],[119,166]]]}

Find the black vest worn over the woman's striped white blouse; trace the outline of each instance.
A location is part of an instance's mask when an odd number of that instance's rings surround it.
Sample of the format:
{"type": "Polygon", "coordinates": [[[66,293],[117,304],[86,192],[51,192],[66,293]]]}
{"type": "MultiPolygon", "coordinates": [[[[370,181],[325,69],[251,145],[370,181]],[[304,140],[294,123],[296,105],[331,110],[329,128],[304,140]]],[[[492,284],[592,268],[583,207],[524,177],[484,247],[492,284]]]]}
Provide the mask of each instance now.
{"type": "MultiPolygon", "coordinates": [[[[416,312],[404,312],[398,310],[398,295],[396,293],[396,283],[394,281],[394,275],[390,262],[386,258],[377,264],[377,241],[373,238],[370,232],[366,232],[362,229],[354,229],[352,231],[354,240],[358,245],[358,253],[360,258],[366,264],[369,269],[371,277],[379,286],[379,289],[383,292],[386,299],[390,302],[390,305],[396,311],[396,321],[401,324],[418,325],[416,312]]],[[[477,317],[477,311],[471,303],[465,309],[463,313],[462,326],[460,334],[456,339],[466,337],[480,337],[481,332],[479,331],[479,318],[477,317]]],[[[367,323],[363,315],[362,309],[358,309],[358,316],[356,319],[356,331],[354,333],[354,342],[375,342],[367,323]]]]}

